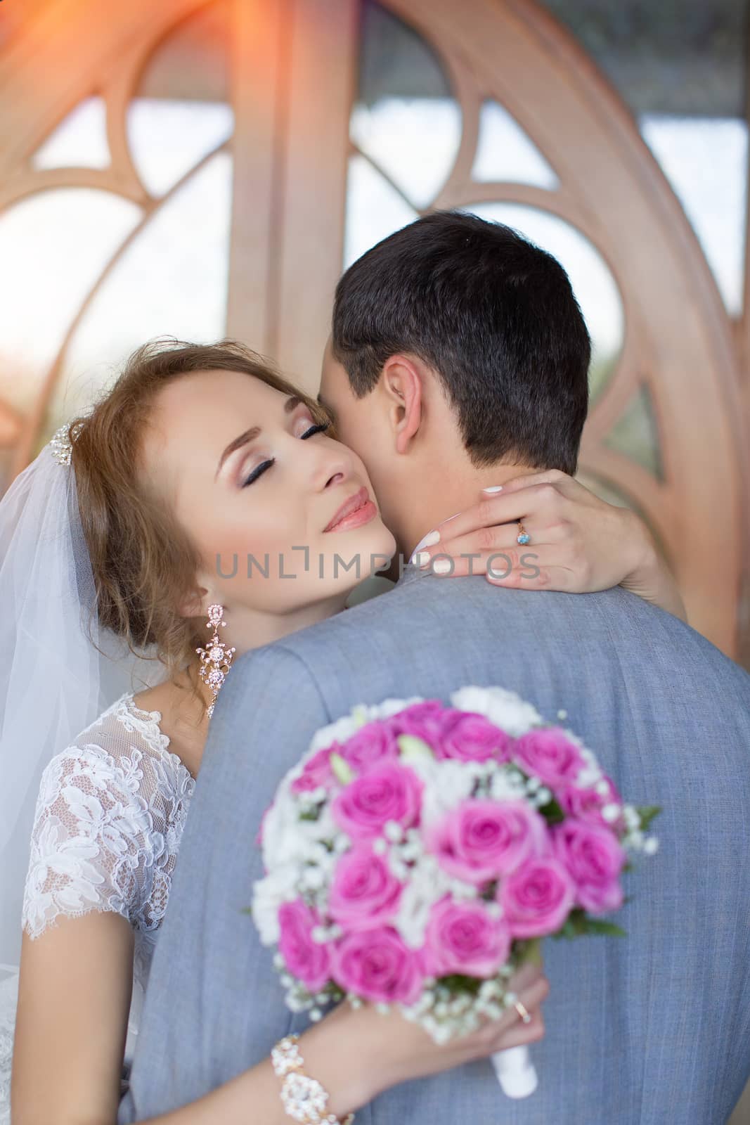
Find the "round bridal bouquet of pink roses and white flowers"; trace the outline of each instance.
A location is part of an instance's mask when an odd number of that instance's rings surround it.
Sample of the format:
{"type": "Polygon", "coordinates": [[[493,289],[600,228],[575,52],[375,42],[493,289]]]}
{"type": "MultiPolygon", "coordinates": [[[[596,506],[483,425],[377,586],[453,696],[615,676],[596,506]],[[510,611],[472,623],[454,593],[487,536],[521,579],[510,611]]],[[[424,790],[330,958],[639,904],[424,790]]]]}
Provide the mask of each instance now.
{"type": "Polygon", "coordinates": [[[516,1001],[540,938],[622,935],[599,916],[623,903],[629,853],[656,852],[658,811],[513,692],[355,706],[264,814],[252,915],[292,1011],[397,1004],[445,1042],[516,1001]]]}

